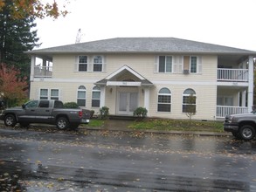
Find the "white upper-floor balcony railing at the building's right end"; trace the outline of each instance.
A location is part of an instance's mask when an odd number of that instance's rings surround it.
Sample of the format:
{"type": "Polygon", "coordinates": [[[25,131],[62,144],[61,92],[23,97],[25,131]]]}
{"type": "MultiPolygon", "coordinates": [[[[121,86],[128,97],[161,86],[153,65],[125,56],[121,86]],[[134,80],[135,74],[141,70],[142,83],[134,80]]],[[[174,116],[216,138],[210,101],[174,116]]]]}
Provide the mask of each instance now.
{"type": "Polygon", "coordinates": [[[248,69],[218,69],[218,81],[247,82],[248,69]]]}

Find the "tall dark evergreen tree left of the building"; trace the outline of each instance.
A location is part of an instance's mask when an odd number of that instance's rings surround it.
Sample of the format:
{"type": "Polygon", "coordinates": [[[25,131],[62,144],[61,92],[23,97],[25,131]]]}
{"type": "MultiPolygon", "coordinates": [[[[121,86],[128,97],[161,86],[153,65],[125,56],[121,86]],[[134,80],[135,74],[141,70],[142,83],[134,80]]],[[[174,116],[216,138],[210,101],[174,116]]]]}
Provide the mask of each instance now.
{"type": "Polygon", "coordinates": [[[27,15],[17,19],[10,17],[11,1],[5,1],[0,10],[0,63],[14,65],[21,77],[30,76],[31,59],[24,51],[38,46],[37,31],[33,31],[35,18],[27,15]]]}

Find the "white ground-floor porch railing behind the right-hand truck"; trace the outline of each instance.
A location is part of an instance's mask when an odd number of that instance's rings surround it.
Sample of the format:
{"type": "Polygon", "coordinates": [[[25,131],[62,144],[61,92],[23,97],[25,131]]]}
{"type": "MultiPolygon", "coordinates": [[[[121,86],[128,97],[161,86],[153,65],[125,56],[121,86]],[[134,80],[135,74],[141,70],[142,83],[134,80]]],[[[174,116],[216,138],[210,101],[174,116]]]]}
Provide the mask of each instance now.
{"type": "Polygon", "coordinates": [[[217,106],[217,118],[225,118],[228,114],[248,113],[247,106],[217,106]]]}

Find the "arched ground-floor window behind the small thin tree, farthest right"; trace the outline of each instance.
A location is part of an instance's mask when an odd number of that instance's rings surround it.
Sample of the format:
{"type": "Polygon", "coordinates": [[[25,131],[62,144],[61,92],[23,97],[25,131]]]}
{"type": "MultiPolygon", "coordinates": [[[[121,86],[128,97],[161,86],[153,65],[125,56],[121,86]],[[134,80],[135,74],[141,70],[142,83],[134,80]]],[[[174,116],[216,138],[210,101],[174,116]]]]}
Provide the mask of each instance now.
{"type": "Polygon", "coordinates": [[[196,92],[193,89],[183,92],[183,113],[196,113],[196,92]]]}

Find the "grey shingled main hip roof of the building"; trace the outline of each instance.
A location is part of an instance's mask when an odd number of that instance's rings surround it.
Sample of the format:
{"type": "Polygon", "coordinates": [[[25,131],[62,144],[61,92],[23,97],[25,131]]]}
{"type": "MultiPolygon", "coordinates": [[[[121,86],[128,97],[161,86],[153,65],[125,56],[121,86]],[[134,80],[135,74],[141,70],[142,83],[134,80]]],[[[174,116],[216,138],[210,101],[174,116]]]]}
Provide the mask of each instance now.
{"type": "Polygon", "coordinates": [[[256,51],[213,45],[181,38],[109,38],[73,45],[56,46],[33,51],[29,54],[55,53],[207,53],[207,54],[250,54],[256,51]]]}

